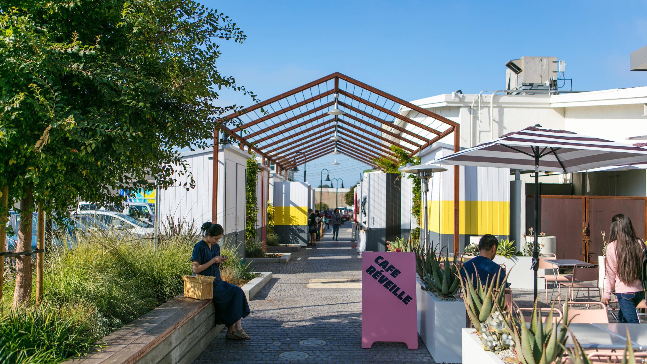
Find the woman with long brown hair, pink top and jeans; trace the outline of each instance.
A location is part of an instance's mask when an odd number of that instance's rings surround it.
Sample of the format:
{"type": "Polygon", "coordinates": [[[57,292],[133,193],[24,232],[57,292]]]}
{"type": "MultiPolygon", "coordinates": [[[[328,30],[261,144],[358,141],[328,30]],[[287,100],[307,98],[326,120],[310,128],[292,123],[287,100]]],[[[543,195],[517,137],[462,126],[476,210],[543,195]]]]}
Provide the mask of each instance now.
{"type": "Polygon", "coordinates": [[[644,242],[636,237],[631,219],[624,213],[611,219],[609,241],[604,260],[604,304],[609,305],[611,292],[615,292],[620,306],[618,322],[639,323],[636,306],[644,299],[641,282],[644,242]]]}

